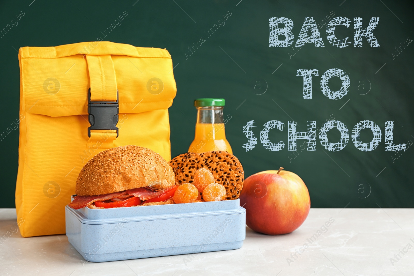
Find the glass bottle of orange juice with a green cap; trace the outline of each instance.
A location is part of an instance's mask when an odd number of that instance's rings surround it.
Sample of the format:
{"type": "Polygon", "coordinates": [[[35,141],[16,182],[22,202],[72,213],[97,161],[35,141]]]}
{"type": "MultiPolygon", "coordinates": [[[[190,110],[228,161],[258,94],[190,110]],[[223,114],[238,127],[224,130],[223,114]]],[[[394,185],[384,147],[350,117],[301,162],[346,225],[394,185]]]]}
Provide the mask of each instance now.
{"type": "Polygon", "coordinates": [[[197,108],[197,123],[195,124],[194,141],[188,149],[189,152],[227,151],[233,154],[224,131],[224,104],[224,99],[195,99],[194,106],[197,108]]]}

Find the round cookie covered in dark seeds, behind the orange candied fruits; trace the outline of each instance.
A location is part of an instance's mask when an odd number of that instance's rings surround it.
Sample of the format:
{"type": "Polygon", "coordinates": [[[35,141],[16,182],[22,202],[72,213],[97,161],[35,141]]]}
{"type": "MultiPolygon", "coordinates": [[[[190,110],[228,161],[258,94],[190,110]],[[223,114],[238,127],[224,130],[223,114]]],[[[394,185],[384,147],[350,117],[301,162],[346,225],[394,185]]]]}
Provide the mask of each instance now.
{"type": "Polygon", "coordinates": [[[207,151],[202,154],[188,152],[176,156],[169,163],[178,185],[193,183],[196,170],[207,168],[214,180],[226,188],[225,199],[238,199],[243,188],[243,167],[237,157],[227,151],[207,151]]]}

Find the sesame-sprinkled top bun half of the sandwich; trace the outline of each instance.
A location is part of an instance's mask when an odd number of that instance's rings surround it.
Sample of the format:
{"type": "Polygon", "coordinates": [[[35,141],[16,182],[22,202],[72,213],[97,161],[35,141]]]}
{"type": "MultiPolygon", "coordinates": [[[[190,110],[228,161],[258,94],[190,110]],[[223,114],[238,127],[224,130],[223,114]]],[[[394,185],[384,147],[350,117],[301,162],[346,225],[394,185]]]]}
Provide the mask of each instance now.
{"type": "Polygon", "coordinates": [[[161,155],[140,146],[120,146],[96,154],[79,173],[77,195],[98,195],[175,184],[174,172],[161,155]]]}

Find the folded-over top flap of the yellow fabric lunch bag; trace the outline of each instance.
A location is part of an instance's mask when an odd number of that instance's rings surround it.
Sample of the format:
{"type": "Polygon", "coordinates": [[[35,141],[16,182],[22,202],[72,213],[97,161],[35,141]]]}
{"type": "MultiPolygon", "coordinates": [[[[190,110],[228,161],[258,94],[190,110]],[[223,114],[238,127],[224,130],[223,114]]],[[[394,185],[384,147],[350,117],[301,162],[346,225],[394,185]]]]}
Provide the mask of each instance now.
{"type": "Polygon", "coordinates": [[[51,117],[87,115],[87,91],[91,86],[96,86],[91,89],[92,100],[99,101],[115,100],[113,90],[109,91],[115,85],[120,113],[167,109],[177,91],[171,55],[165,49],[84,42],[23,47],[19,60],[22,107],[27,113],[51,117]],[[115,75],[108,70],[110,59],[115,75]],[[102,98],[94,89],[109,98],[102,98]]]}

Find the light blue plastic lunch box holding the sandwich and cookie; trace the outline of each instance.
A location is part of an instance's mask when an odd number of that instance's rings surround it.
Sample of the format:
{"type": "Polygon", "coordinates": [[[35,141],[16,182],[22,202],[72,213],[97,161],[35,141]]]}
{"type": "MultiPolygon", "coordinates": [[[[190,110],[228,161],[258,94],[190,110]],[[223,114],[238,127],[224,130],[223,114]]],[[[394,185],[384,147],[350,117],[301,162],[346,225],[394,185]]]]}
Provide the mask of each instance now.
{"type": "Polygon", "coordinates": [[[246,238],[240,200],[74,210],[66,235],[89,262],[232,250],[246,238]]]}

